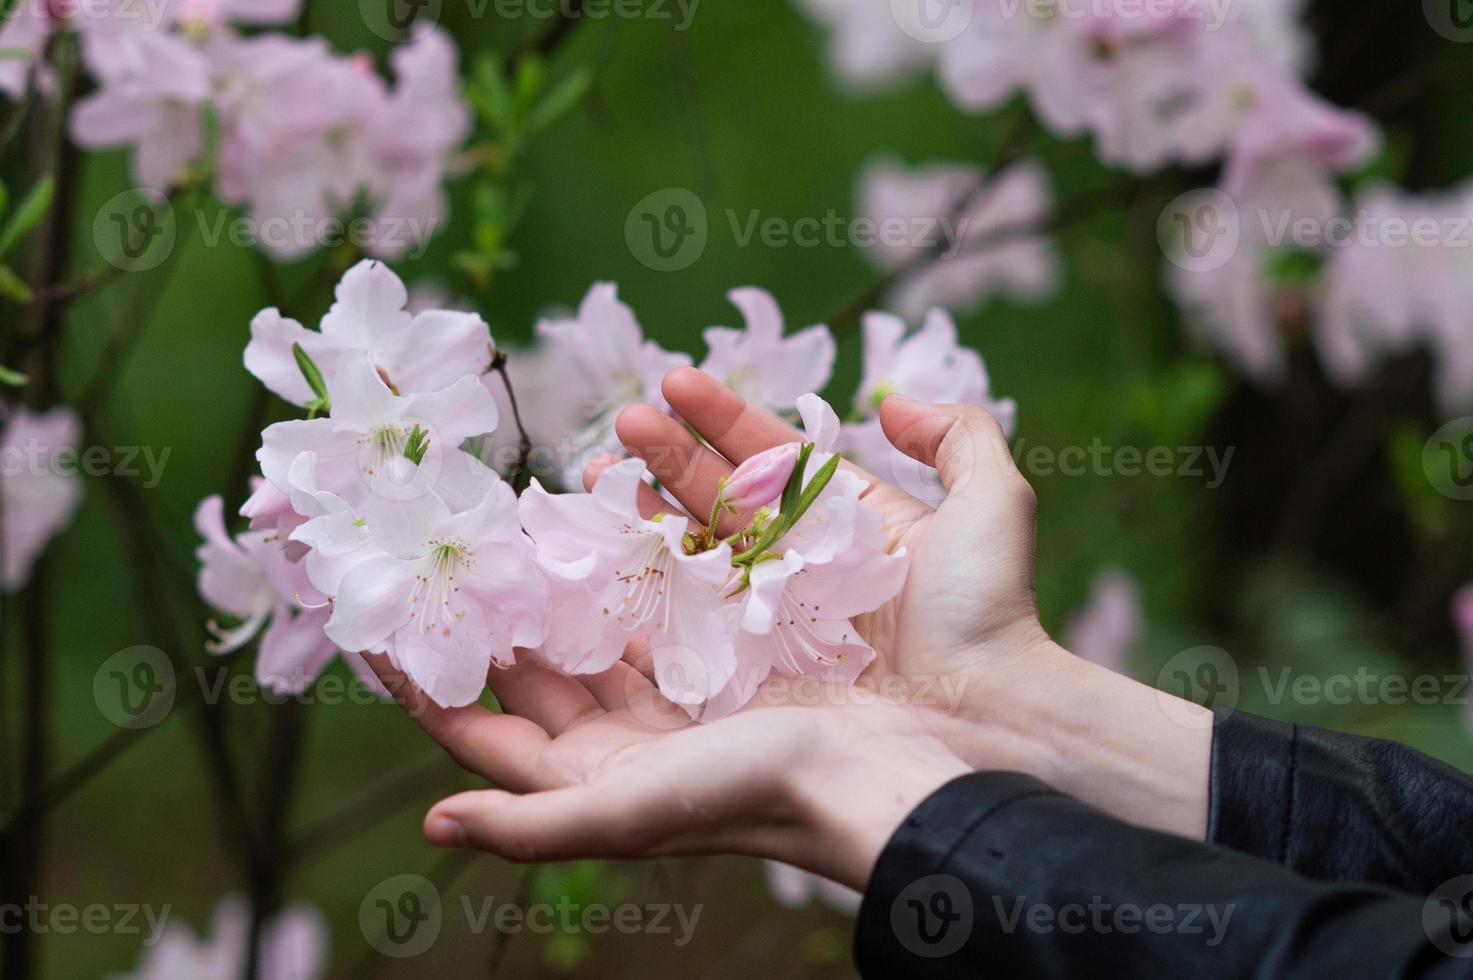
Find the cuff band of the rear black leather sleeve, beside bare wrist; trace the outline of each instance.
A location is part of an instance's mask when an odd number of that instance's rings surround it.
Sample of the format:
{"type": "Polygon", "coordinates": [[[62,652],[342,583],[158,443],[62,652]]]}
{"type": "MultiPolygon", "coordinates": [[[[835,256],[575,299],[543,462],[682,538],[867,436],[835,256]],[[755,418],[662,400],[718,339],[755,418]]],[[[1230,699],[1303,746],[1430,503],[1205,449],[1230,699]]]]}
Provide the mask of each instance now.
{"type": "Polygon", "coordinates": [[[1212,734],[1206,839],[1289,861],[1299,729],[1245,712],[1218,712],[1212,734]]]}

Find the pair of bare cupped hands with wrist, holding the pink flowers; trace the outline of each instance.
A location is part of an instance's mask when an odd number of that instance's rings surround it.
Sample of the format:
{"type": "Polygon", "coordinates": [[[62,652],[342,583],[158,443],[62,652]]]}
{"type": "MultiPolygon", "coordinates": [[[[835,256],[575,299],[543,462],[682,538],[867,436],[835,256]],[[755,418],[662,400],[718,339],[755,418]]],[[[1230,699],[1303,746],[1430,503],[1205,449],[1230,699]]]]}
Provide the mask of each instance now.
{"type": "MultiPolygon", "coordinates": [[[[617,430],[691,513],[710,513],[742,460],[801,438],[700,371],[672,373],[664,393],[689,429],[635,407],[617,430]]],[[[912,556],[901,594],[856,620],[878,653],[866,678],[899,691],[787,697],[794,681],[775,676],[745,709],[695,724],[632,645],[594,676],[530,654],[493,669],[498,713],[437,707],[373,657],[432,737],[499,787],[443,800],[426,836],[517,861],[747,853],[863,887],[910,809],[972,769],[1031,772],[1117,816],[1200,836],[1209,724],[1170,731],[1162,696],[1049,640],[1033,589],[1034,497],[996,421],[896,396],[881,420],[949,491],[931,508],[854,470],[890,547],[912,556]]],[[[642,507],[670,504],[647,489],[642,507]]]]}

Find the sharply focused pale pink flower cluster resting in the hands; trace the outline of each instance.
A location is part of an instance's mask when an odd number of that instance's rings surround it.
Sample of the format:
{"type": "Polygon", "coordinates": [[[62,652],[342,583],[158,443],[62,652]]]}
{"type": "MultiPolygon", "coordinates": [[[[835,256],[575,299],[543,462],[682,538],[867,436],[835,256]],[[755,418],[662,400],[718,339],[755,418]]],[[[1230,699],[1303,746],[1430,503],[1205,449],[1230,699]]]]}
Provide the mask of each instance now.
{"type": "MultiPolygon", "coordinates": [[[[613,284],[510,357],[527,423],[579,460],[546,467],[569,492],[532,479],[520,498],[486,458],[514,426],[479,315],[411,312],[404,283],[376,261],[343,276],[318,330],[258,314],[246,367],[308,417],[262,433],[249,531],[227,533],[219,498],[200,504],[200,591],[236,620],[215,626],[218,648],[261,634],[256,673],[277,691],[302,690],[336,651],[359,669],[362,654],[383,654],[460,706],[517,656],[597,673],[641,638],[661,693],[703,721],[742,707],[773,672],[851,682],[875,657],[851,619],[899,594],[907,559],[887,551],[865,482],[838,452],[899,469],[875,419],[893,391],[984,404],[1009,424],[1013,407],[991,399],[981,358],[944,312],[915,333],[871,314],[863,388],[841,424],[813,393],[829,382],[828,327],[785,335],[769,293],[731,298],[745,326],[707,330],[703,365],[801,421],[804,438],[736,467],[709,520],[644,510],[651,477],[638,460],[580,492],[585,454],[619,448],[619,411],[669,411],[660,382],[691,363],[647,339],[613,284]],[[539,419],[533,405],[555,401],[539,419]],[[717,532],[725,514],[742,526],[717,532]]],[[[934,475],[901,479],[937,486],[934,475]]]]}

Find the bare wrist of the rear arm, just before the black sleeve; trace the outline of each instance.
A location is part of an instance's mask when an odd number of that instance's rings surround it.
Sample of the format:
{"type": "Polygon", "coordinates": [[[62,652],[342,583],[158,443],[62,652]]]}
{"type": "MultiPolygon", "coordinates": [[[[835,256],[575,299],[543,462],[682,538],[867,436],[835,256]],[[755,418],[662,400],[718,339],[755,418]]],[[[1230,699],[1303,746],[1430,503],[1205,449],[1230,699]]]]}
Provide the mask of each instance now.
{"type": "Polygon", "coordinates": [[[1028,772],[1133,824],[1206,834],[1212,713],[1046,637],[968,678],[947,743],[977,769],[1028,772]]]}

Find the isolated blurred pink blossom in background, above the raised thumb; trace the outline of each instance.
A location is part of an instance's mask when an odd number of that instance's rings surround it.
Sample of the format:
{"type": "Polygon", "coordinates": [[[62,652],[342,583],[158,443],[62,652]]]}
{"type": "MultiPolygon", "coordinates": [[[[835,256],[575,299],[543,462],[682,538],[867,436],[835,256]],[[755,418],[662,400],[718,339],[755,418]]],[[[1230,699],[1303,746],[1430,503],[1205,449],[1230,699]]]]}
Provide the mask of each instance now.
{"type": "Polygon", "coordinates": [[[900,223],[907,228],[904,240],[881,234],[871,249],[885,271],[903,270],[925,249],[943,249],[893,289],[890,299],[904,317],[918,318],[931,307],[972,311],[999,293],[1038,301],[1058,289],[1059,259],[1050,242],[1012,234],[1053,211],[1047,177],[1034,161],[984,181],[975,167],[906,169],[899,161],[876,159],[860,174],[859,211],[879,228],[900,223]],[[988,242],[1005,228],[1012,237],[988,242]]]}

